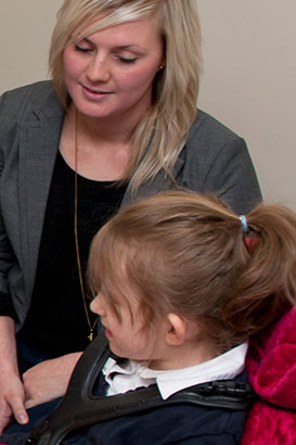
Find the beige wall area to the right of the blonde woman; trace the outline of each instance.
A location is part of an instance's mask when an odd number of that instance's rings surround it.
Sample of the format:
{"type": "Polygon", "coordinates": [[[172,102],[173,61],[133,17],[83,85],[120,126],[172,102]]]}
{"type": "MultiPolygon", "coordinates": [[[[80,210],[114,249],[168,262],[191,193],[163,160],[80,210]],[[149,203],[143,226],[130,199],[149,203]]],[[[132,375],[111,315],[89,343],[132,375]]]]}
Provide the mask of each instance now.
{"type": "Polygon", "coordinates": [[[296,1],[197,3],[200,106],[247,140],[265,199],[296,211],[296,1]]]}

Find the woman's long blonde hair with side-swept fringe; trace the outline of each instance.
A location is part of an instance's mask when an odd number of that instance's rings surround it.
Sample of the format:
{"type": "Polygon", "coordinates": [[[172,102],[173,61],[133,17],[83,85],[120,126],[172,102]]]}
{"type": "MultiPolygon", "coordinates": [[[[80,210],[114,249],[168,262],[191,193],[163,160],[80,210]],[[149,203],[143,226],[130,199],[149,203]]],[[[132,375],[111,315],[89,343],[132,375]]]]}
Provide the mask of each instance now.
{"type": "Polygon", "coordinates": [[[171,176],[196,117],[202,71],[196,0],[65,0],[57,13],[49,54],[54,88],[66,106],[65,47],[96,30],[154,15],[159,21],[166,62],[154,79],[152,106],[133,134],[133,150],[123,178],[133,191],[163,168],[171,176]],[[101,13],[102,18],[95,21],[101,13]]]}

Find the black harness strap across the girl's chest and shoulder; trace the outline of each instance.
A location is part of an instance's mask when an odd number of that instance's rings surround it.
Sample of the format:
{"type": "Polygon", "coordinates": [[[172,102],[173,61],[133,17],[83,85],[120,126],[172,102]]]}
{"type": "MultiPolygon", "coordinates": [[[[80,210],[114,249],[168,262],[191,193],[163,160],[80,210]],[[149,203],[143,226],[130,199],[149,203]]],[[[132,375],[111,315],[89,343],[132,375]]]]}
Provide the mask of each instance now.
{"type": "Polygon", "coordinates": [[[57,445],[66,435],[80,428],[162,406],[192,404],[208,408],[244,410],[256,397],[248,384],[233,380],[195,385],[173,394],[166,400],[155,385],[126,394],[98,397],[92,394],[92,390],[108,356],[107,340],[101,334],[80,357],[61,404],[43,423],[34,429],[26,444],[57,445]]]}

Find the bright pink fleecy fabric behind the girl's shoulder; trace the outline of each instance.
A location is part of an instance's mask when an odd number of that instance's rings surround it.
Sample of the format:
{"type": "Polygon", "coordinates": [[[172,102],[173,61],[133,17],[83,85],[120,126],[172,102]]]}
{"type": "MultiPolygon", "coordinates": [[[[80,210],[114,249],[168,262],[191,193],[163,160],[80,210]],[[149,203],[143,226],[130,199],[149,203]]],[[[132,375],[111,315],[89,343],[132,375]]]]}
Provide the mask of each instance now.
{"type": "Polygon", "coordinates": [[[250,342],[246,368],[261,399],[249,411],[241,445],[296,445],[296,308],[250,342]]]}

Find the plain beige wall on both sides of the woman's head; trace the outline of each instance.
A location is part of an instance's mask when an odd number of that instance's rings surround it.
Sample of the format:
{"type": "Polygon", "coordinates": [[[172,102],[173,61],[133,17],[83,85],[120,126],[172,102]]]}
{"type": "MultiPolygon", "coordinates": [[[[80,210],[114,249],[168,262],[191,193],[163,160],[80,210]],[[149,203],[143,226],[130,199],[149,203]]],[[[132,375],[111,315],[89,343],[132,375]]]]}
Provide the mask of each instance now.
{"type": "MultiPolygon", "coordinates": [[[[205,60],[200,106],[247,140],[266,200],[296,209],[296,1],[197,3],[205,60]]],[[[61,4],[0,1],[0,93],[47,77],[61,4]]]]}

